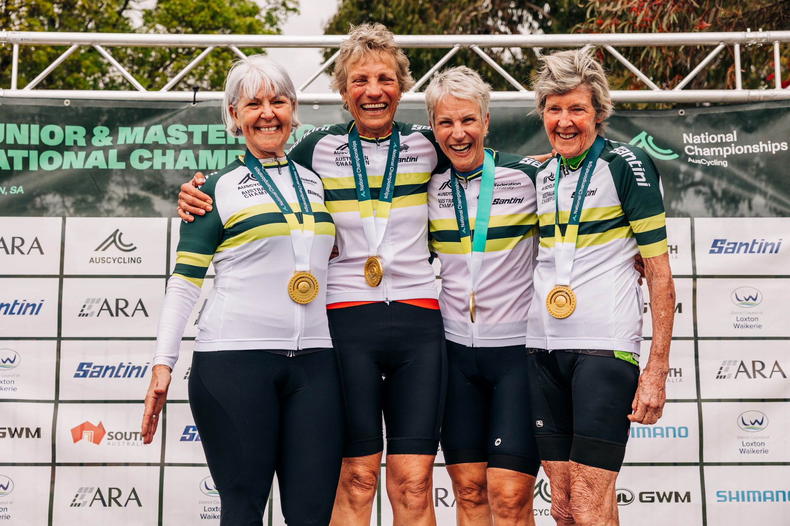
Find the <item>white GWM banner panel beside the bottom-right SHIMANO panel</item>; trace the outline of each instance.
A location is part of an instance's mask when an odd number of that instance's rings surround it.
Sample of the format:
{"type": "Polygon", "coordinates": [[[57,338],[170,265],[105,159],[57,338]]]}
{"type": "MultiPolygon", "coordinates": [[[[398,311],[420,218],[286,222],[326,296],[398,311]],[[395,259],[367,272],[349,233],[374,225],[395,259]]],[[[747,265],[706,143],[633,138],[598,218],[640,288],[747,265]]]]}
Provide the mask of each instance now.
{"type": "Polygon", "coordinates": [[[616,486],[620,524],[702,524],[697,466],[625,466],[616,486]]]}

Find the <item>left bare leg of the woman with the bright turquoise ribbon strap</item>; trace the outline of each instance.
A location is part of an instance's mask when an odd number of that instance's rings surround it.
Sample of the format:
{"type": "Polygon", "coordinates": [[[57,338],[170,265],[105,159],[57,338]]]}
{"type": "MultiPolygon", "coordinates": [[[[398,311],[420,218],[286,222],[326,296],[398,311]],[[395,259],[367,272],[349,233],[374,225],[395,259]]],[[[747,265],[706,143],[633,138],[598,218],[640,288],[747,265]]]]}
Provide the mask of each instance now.
{"type": "Polygon", "coordinates": [[[453,480],[457,526],[493,526],[486,491],[487,462],[450,464],[447,472],[453,480]]]}

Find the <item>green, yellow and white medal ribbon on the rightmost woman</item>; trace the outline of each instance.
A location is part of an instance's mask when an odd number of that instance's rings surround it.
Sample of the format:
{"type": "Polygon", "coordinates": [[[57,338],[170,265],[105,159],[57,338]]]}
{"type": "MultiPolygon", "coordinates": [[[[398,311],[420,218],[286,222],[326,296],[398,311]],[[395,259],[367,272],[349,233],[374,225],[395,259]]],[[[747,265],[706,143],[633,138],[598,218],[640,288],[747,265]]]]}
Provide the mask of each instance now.
{"type": "Polygon", "coordinates": [[[596,136],[585,159],[581,162],[581,173],[576,183],[576,193],[574,202],[570,207],[570,217],[565,229],[565,236],[559,229],[559,176],[562,173],[560,165],[562,157],[557,155],[557,173],[554,176],[554,264],[557,270],[557,285],[570,285],[570,271],[574,267],[574,256],[576,254],[576,240],[579,234],[579,221],[581,220],[581,207],[585,203],[587,188],[592,179],[592,172],[595,170],[596,162],[601,152],[604,151],[604,138],[596,136]]]}

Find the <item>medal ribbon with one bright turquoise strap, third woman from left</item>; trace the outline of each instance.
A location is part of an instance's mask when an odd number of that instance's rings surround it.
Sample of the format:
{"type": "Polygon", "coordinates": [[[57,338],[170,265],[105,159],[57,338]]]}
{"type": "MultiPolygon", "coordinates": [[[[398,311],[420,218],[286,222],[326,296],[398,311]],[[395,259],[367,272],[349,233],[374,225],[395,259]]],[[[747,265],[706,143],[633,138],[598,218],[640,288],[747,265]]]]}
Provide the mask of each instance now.
{"type": "Polygon", "coordinates": [[[480,278],[480,267],[483,266],[483,254],[486,252],[488,237],[488,219],[491,216],[491,200],[494,196],[494,155],[486,149],[483,159],[483,176],[480,177],[480,196],[477,198],[477,215],[475,219],[475,235],[472,239],[472,226],[469,224],[466,194],[461,188],[461,177],[452,169],[453,208],[458,224],[458,235],[461,237],[461,250],[464,251],[466,266],[472,274],[472,291],[475,290],[477,279],[480,278]]]}

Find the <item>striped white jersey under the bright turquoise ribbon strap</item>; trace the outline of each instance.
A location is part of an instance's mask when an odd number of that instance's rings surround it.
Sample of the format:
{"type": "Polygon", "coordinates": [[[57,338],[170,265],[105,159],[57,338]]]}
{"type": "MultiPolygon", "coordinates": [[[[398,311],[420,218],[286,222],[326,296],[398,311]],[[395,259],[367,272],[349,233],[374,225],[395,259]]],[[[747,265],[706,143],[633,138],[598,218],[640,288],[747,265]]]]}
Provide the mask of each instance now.
{"type": "MultiPolygon", "coordinates": [[[[538,239],[535,176],[540,162],[495,151],[494,164],[486,252],[475,289],[475,323],[469,317],[472,275],[461,248],[453,209],[452,170],[437,173],[428,184],[431,252],[441,263],[439,306],[446,338],[470,347],[523,345],[527,311],[532,300],[538,239]]],[[[468,178],[466,185],[461,183],[472,235],[480,181],[480,175],[475,174],[468,178]]]]}

